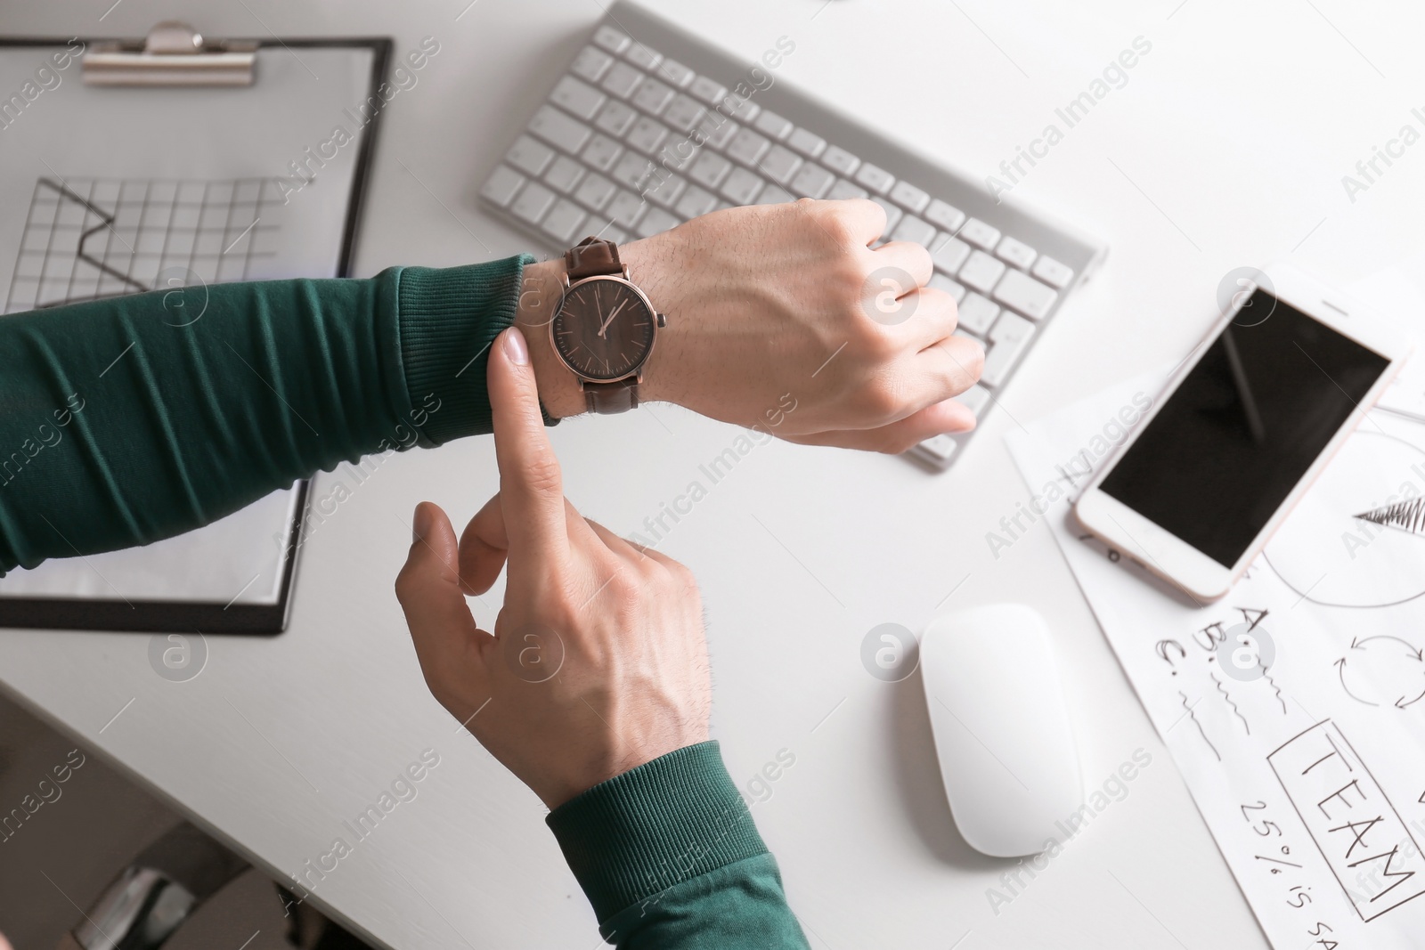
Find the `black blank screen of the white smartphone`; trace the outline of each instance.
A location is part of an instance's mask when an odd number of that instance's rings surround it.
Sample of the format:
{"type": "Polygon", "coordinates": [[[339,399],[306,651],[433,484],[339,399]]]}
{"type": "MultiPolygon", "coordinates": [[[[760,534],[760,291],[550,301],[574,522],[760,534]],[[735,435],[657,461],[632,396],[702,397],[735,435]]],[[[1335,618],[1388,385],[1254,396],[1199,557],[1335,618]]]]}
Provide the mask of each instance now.
{"type": "Polygon", "coordinates": [[[1231,567],[1387,366],[1258,288],[1100,489],[1231,567]]]}

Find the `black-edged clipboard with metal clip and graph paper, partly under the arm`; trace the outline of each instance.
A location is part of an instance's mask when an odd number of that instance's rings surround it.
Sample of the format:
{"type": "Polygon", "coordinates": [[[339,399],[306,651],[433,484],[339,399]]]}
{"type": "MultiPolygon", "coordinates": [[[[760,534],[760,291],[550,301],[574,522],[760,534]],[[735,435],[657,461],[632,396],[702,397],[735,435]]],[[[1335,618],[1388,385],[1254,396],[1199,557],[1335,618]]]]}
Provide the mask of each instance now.
{"type": "MultiPolygon", "coordinates": [[[[11,222],[0,224],[0,319],[197,282],[349,276],[390,54],[389,38],[214,41],[177,21],[144,40],[0,37],[0,165],[27,165],[13,194],[0,187],[0,222],[11,222]],[[161,147],[165,122],[224,114],[231,125],[185,142],[202,154],[161,147]],[[336,124],[353,134],[322,161],[336,124]]],[[[0,627],[282,632],[311,493],[302,480],[178,538],[11,571],[0,627]],[[209,575],[174,575],[205,546],[221,563],[209,575]]]]}

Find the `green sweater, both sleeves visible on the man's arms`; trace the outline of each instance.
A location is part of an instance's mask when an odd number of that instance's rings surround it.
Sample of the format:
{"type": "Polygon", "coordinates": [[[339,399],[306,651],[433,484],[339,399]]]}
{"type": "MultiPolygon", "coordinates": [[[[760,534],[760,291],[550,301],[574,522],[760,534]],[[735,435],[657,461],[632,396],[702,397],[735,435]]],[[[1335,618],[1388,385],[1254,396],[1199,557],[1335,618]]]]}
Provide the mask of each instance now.
{"type": "MultiPolygon", "coordinates": [[[[181,534],[342,460],[490,432],[529,256],[0,318],[0,573],[181,534]]],[[[805,947],[715,742],[554,809],[620,947],[805,947]]]]}

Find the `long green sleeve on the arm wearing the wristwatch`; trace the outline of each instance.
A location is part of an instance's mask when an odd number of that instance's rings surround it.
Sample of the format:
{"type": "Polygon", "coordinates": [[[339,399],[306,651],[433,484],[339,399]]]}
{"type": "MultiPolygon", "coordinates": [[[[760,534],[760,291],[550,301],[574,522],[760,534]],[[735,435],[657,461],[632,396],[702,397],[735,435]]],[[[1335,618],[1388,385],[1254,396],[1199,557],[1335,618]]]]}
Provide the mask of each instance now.
{"type": "Polygon", "coordinates": [[[0,318],[0,573],[181,534],[342,460],[490,432],[517,256],[0,318]]]}

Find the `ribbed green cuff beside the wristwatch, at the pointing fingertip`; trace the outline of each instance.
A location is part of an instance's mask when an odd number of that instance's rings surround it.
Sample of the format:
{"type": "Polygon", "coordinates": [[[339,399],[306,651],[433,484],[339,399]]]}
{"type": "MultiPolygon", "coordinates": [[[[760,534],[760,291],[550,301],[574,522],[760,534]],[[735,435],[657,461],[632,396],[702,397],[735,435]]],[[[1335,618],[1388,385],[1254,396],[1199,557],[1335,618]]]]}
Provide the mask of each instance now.
{"type": "Polygon", "coordinates": [[[396,301],[406,392],[412,406],[439,406],[420,427],[429,444],[490,432],[490,345],[514,323],[524,266],[533,262],[522,254],[460,268],[402,268],[396,301]]]}

